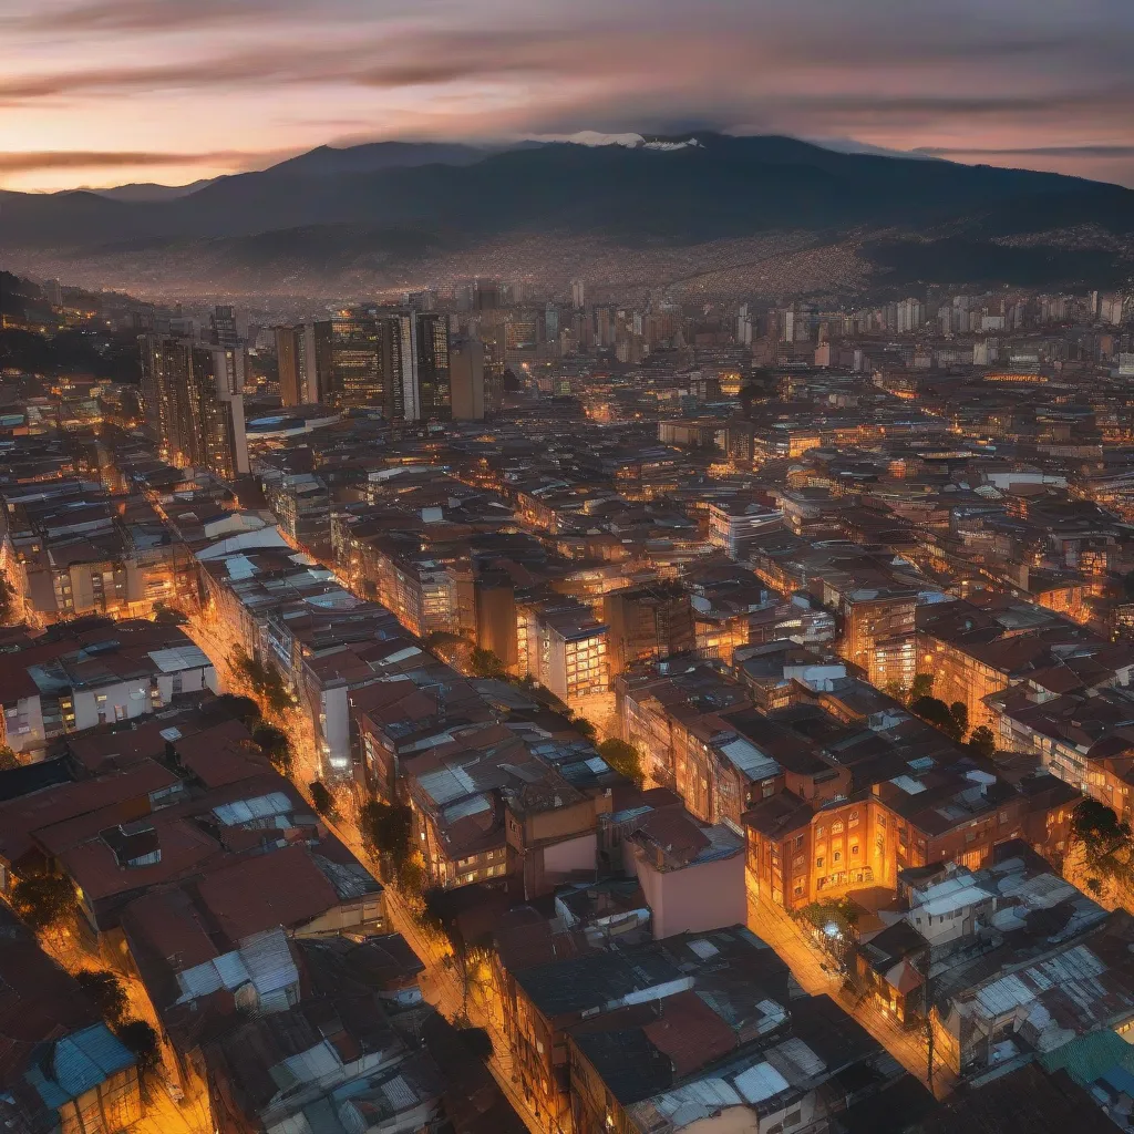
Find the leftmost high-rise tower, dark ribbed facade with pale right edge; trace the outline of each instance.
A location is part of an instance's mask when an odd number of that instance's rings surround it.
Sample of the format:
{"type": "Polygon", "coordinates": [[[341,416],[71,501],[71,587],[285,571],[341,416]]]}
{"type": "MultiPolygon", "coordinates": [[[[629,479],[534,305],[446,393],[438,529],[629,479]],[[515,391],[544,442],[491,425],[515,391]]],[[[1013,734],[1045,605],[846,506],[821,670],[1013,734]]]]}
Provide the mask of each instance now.
{"type": "Polygon", "coordinates": [[[138,345],[146,426],[164,459],[226,480],[247,473],[244,348],[156,335],[142,336],[138,345]]]}

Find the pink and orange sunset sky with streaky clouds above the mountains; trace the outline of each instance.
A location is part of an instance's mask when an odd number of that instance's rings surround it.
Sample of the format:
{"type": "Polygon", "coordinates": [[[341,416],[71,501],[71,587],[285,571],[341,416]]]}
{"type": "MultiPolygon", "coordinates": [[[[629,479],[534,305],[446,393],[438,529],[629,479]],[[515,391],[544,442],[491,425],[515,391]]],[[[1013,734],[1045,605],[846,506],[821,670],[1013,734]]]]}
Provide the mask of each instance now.
{"type": "Polygon", "coordinates": [[[688,128],[1134,186],[1134,0],[0,0],[5,188],[688,128]]]}

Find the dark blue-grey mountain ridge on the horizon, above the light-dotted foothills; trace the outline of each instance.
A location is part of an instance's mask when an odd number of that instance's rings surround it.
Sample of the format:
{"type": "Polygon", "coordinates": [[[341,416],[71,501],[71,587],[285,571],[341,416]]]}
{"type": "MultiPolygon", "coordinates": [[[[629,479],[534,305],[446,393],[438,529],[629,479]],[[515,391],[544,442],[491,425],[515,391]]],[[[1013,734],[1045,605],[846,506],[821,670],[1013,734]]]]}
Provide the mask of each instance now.
{"type": "MultiPolygon", "coordinates": [[[[542,142],[503,150],[397,142],[321,146],[167,200],[75,191],[3,193],[0,201],[0,248],[19,249],[29,261],[73,254],[93,264],[108,249],[116,256],[135,249],[144,260],[168,246],[192,265],[195,244],[212,254],[218,242],[229,242],[234,255],[242,244],[274,244],[291,249],[295,259],[285,257],[285,268],[303,270],[303,257],[325,255],[329,279],[336,263],[350,269],[341,231],[352,227],[369,234],[375,263],[407,264],[424,256],[422,249],[432,255],[447,244],[491,247],[551,232],[626,248],[692,248],[793,231],[835,243],[849,234],[877,243],[882,232],[914,244],[942,235],[967,240],[965,255],[953,257],[940,278],[926,265],[930,282],[954,282],[946,277],[959,264],[981,269],[982,247],[1022,234],[1094,225],[1124,247],[1134,235],[1134,191],[1122,186],[846,153],[777,135],[704,133],[660,145],[625,135],[615,144],[542,142]],[[627,144],[629,137],[643,144],[627,144]]],[[[1115,257],[1117,264],[1123,254],[1115,257]]],[[[892,272],[895,262],[908,266],[917,257],[889,254],[878,268],[892,272]]],[[[988,263],[1026,263],[1032,271],[1042,266],[1042,255],[989,251],[988,263]]],[[[1058,284],[1077,280],[1081,270],[1057,265],[1041,274],[1058,284]]]]}

